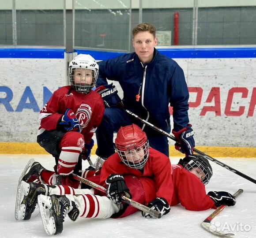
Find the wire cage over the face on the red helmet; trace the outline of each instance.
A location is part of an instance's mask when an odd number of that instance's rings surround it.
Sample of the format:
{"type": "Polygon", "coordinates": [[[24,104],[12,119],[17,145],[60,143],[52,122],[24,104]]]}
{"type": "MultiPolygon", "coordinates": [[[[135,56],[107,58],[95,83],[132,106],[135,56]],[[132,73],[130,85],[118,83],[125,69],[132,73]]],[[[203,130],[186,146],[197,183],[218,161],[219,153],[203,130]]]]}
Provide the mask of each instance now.
{"type": "Polygon", "coordinates": [[[118,155],[120,159],[126,164],[128,167],[133,169],[142,169],[149,156],[149,143],[146,141],[143,145],[136,147],[131,146],[131,148],[127,148],[127,150],[120,150],[117,147],[118,155]]]}

